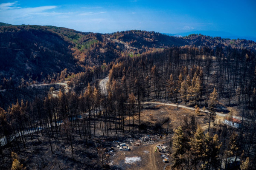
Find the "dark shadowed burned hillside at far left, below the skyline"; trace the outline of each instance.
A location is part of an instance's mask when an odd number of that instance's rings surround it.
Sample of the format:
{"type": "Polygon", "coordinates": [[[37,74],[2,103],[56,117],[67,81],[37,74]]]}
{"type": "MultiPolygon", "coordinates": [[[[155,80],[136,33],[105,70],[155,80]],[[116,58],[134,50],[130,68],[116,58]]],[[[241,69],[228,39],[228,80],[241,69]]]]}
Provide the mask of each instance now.
{"type": "Polygon", "coordinates": [[[29,26],[0,27],[0,78],[40,81],[64,68],[75,71],[70,43],[54,32],[29,26]]]}

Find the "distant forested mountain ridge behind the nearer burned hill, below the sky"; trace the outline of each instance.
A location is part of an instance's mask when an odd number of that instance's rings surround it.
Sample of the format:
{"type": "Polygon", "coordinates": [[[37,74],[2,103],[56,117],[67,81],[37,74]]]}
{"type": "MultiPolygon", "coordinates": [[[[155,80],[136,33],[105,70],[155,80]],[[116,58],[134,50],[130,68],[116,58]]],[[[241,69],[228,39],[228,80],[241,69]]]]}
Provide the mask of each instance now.
{"type": "MultiPolygon", "coordinates": [[[[121,31],[112,34],[80,32],[55,26],[13,26],[0,23],[0,79],[43,81],[57,79],[67,68],[78,73],[88,68],[95,70],[124,55],[133,57],[147,51],[172,46],[216,46],[256,49],[248,40],[229,40],[192,34],[172,37],[154,31],[121,31]]],[[[2,82],[2,80],[1,80],[2,82]]]]}

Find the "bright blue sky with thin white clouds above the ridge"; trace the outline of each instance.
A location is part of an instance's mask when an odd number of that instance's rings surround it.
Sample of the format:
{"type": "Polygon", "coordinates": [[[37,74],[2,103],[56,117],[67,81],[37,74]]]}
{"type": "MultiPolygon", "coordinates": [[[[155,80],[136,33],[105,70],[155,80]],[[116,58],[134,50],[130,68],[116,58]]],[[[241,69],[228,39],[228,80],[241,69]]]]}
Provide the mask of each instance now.
{"type": "Polygon", "coordinates": [[[100,33],[203,30],[256,37],[256,0],[1,0],[0,22],[100,33]]]}

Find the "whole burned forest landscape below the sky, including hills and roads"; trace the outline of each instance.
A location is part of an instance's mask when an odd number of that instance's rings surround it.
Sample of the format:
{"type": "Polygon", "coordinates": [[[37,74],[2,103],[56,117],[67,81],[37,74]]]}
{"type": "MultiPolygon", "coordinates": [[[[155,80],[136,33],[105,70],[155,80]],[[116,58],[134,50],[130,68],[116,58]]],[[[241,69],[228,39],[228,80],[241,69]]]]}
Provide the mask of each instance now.
{"type": "Polygon", "coordinates": [[[254,41],[53,26],[0,37],[0,169],[255,169],[254,41]]]}

